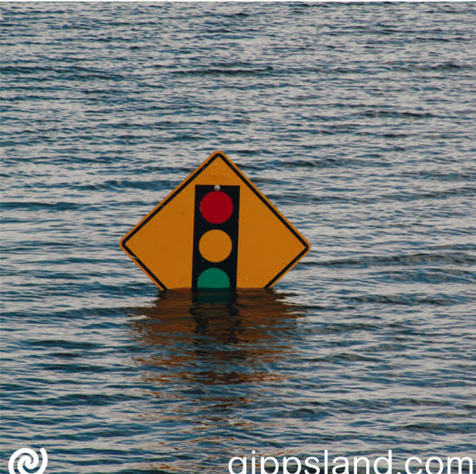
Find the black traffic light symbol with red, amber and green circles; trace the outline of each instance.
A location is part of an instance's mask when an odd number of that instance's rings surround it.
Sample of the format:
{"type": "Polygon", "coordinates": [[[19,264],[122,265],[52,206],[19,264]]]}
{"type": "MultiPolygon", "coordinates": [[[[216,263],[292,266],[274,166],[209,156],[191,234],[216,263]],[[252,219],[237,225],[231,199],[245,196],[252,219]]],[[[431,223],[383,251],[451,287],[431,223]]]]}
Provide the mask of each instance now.
{"type": "Polygon", "coordinates": [[[236,287],[240,186],[195,186],[191,287],[236,287]]]}

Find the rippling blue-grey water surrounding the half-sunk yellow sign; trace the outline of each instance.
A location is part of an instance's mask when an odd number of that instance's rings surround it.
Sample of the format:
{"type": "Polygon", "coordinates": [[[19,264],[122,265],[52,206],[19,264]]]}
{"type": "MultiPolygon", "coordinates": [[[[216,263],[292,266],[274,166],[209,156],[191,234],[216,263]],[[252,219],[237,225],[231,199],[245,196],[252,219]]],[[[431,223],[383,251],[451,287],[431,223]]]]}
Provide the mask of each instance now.
{"type": "Polygon", "coordinates": [[[1,470],[474,453],[475,12],[1,4],[1,470]],[[216,149],[312,250],[193,302],[118,242],[216,149]]]}

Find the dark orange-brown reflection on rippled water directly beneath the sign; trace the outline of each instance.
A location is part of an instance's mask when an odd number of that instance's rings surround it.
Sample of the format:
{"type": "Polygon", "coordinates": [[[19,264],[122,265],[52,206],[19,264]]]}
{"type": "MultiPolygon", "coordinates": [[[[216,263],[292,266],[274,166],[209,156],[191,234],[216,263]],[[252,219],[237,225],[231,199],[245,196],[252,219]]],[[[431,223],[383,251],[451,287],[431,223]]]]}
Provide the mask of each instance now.
{"type": "Polygon", "coordinates": [[[135,337],[153,349],[140,358],[148,377],[228,385],[276,377],[269,366],[292,357],[299,309],[273,290],[161,292],[135,315],[135,337]]]}

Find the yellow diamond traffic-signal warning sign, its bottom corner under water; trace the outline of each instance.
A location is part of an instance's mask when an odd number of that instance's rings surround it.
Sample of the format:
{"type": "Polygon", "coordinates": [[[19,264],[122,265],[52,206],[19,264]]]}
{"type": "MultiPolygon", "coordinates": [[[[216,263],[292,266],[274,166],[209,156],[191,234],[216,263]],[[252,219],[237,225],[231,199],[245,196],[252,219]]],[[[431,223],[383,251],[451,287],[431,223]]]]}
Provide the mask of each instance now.
{"type": "Polygon", "coordinates": [[[163,290],[266,288],[310,244],[217,151],[126,233],[121,248],[163,290]]]}

